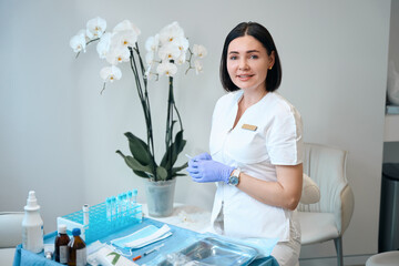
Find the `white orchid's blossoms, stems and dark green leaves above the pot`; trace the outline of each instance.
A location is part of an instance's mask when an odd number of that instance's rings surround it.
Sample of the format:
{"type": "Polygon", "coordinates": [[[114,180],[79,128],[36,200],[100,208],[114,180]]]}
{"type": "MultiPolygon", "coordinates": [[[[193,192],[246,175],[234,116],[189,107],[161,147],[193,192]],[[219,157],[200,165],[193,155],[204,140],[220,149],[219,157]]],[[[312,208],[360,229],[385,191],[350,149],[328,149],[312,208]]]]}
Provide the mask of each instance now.
{"type": "Polygon", "coordinates": [[[78,57],[81,52],[86,51],[89,44],[98,42],[96,51],[100,59],[110,63],[110,66],[100,71],[100,76],[104,81],[101,93],[109,82],[112,83],[122,78],[122,71],[117,65],[125,62],[130,63],[144,112],[147,135],[146,142],[144,142],[133,133],[126,132],[125,136],[129,140],[132,156],[124,155],[121,151],[116,151],[116,153],[124,158],[127,166],[136,175],[152,181],[167,181],[184,175],[178,172],[187,166],[185,163],[182,166],[174,167],[186,141],[183,140],[183,123],[174,101],[173,78],[177,73],[178,66],[184,64],[187,65],[185,73],[190,70],[195,70],[197,74],[201,73],[203,66],[200,59],[204,58],[207,52],[203,45],[194,44],[191,49],[183,29],[177,22],[173,22],[146,40],[146,55],[145,61],[143,61],[137,44],[140,34],[140,29],[129,20],[116,24],[112,32],[106,32],[106,21],[98,17],[89,20],[86,29],[80,30],[76,35],[71,38],[70,45],[78,57]],[[147,81],[158,81],[160,76],[168,78],[168,100],[165,154],[161,163],[156,164],[147,81]],[[180,124],[180,131],[175,135],[173,130],[177,121],[174,119],[174,114],[177,115],[180,124]]]}

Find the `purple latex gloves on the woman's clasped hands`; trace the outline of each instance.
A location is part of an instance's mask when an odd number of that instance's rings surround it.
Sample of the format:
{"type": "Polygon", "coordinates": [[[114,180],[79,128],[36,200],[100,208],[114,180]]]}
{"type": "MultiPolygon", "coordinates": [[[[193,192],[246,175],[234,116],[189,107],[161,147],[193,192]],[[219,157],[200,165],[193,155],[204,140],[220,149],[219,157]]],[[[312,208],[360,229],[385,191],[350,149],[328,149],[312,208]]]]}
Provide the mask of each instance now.
{"type": "Polygon", "coordinates": [[[228,177],[235,167],[231,167],[223,163],[209,160],[195,160],[188,161],[187,172],[192,180],[198,183],[205,182],[219,182],[228,183],[228,177]]]}

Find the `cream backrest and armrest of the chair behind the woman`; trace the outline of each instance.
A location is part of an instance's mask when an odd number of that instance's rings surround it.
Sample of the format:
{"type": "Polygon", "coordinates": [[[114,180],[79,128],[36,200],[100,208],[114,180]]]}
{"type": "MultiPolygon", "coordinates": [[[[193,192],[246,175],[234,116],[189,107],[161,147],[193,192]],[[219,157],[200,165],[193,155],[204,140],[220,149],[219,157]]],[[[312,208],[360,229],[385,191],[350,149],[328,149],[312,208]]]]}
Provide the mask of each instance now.
{"type": "Polygon", "coordinates": [[[304,173],[319,186],[320,201],[315,204],[299,203],[298,211],[332,213],[339,232],[344,233],[354,211],[354,196],[346,176],[348,153],[314,143],[305,143],[304,147],[304,173]]]}

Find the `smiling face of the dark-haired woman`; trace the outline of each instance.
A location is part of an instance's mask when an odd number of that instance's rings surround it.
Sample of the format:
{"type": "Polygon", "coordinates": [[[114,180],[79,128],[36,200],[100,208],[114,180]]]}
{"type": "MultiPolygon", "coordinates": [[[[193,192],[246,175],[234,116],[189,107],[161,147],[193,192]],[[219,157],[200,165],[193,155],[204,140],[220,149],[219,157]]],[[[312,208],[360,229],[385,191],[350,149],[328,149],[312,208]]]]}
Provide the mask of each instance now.
{"type": "Polygon", "coordinates": [[[252,35],[234,39],[227,50],[227,72],[233,83],[243,90],[265,91],[267,70],[274,64],[274,53],[252,35]]]}

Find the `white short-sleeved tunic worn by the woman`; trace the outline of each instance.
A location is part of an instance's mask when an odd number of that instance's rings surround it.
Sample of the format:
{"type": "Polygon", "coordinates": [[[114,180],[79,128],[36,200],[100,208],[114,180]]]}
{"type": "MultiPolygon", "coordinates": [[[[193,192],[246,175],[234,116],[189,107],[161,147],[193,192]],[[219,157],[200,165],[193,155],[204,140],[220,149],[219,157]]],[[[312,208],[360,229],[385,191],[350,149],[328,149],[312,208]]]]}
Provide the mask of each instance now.
{"type": "MultiPolygon", "coordinates": [[[[236,91],[217,101],[212,121],[211,155],[253,177],[277,181],[275,165],[303,162],[300,115],[279,93],[268,92],[244,112],[232,130],[242,95],[243,91],[236,91]],[[244,124],[257,129],[243,129],[244,124]]],[[[216,232],[215,219],[222,208],[225,235],[289,241],[289,225],[293,224],[289,209],[260,203],[237,187],[218,182],[212,211],[212,225],[216,232]]]]}

